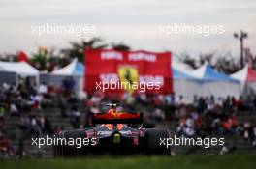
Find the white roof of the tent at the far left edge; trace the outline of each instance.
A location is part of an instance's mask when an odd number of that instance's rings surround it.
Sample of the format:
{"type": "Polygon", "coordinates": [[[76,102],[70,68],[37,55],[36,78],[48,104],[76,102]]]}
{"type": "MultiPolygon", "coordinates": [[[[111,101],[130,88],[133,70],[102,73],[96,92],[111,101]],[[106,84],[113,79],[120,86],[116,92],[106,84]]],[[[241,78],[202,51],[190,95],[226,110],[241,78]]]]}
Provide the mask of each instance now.
{"type": "Polygon", "coordinates": [[[0,70],[16,72],[21,76],[38,76],[39,71],[26,62],[0,62],[0,70]]]}

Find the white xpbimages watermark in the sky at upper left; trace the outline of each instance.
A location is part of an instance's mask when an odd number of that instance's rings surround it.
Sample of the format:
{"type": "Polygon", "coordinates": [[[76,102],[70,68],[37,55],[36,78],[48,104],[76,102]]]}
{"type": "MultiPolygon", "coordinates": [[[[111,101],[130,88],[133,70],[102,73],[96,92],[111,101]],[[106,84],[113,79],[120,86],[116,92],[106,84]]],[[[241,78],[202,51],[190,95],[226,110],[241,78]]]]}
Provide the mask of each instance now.
{"type": "Polygon", "coordinates": [[[56,23],[45,23],[31,26],[31,33],[41,37],[44,35],[63,35],[72,34],[82,37],[88,34],[96,34],[96,25],[61,25],[56,23]]]}

